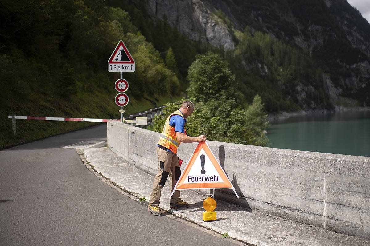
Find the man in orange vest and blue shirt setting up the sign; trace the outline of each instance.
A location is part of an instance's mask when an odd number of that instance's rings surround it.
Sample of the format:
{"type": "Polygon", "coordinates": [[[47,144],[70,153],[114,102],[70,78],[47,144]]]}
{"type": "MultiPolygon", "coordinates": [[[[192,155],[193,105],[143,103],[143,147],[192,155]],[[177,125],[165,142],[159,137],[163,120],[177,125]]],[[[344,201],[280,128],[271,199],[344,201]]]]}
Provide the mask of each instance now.
{"type": "MultiPolygon", "coordinates": [[[[158,171],[157,176],[154,178],[153,190],[150,195],[148,206],[148,210],[154,215],[162,215],[162,210],[159,208],[159,199],[161,198],[161,192],[168,175],[170,177],[172,190],[180,177],[179,158],[176,154],[180,143],[202,142],[206,140],[204,135],[196,138],[186,135],[186,118],[188,118],[193,111],[194,104],[191,101],[184,101],[179,110],[176,110],[168,116],[163,127],[162,136],[157,142],[158,171]]],[[[187,208],[189,204],[181,201],[180,191],[176,190],[171,197],[170,207],[172,209],[187,208]]]]}

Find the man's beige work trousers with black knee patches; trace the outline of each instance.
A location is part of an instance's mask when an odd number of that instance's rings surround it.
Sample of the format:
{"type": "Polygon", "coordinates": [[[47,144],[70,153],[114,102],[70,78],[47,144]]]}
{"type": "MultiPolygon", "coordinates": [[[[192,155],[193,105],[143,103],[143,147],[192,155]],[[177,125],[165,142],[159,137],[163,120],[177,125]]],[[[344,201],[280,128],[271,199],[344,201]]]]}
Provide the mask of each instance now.
{"type": "MultiPolygon", "coordinates": [[[[161,198],[161,192],[164,184],[167,181],[168,175],[171,182],[171,192],[175,187],[177,180],[180,178],[180,164],[177,154],[173,154],[157,146],[158,155],[158,171],[154,178],[153,190],[150,195],[149,204],[152,206],[159,206],[159,199],[161,198]]],[[[176,190],[171,197],[170,202],[179,202],[180,191],[176,190]]]]}

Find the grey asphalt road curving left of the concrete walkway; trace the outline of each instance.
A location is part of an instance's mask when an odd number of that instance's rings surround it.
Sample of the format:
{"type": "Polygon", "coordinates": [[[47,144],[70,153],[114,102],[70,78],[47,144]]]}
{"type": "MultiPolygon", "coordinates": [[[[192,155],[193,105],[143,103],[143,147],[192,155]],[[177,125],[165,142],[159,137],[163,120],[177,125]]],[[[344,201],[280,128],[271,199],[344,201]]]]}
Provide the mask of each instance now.
{"type": "MultiPolygon", "coordinates": [[[[0,151],[0,245],[232,245],[147,208],[81,162],[81,141],[106,141],[99,125],[0,151]]],[[[101,145],[105,145],[102,143],[101,145]]]]}

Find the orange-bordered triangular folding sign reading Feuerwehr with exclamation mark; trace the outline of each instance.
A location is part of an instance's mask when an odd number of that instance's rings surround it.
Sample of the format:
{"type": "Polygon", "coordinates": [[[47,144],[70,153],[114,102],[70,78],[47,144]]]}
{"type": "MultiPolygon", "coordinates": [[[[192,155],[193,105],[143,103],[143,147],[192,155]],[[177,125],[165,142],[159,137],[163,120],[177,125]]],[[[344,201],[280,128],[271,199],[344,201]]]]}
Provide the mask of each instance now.
{"type": "Polygon", "coordinates": [[[176,190],[193,189],[232,189],[239,198],[235,188],[216,160],[208,144],[199,142],[186,167],[177,181],[169,199],[176,190]]]}

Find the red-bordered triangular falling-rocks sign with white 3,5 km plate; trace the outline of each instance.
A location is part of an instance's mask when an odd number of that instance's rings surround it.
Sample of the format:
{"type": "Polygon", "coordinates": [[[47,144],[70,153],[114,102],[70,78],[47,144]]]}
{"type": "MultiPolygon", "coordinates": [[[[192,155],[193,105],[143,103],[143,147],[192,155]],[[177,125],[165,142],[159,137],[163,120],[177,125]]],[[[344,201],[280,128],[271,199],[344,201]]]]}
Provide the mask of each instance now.
{"type": "Polygon", "coordinates": [[[108,72],[135,72],[135,61],[122,40],[108,60],[108,72]]]}

